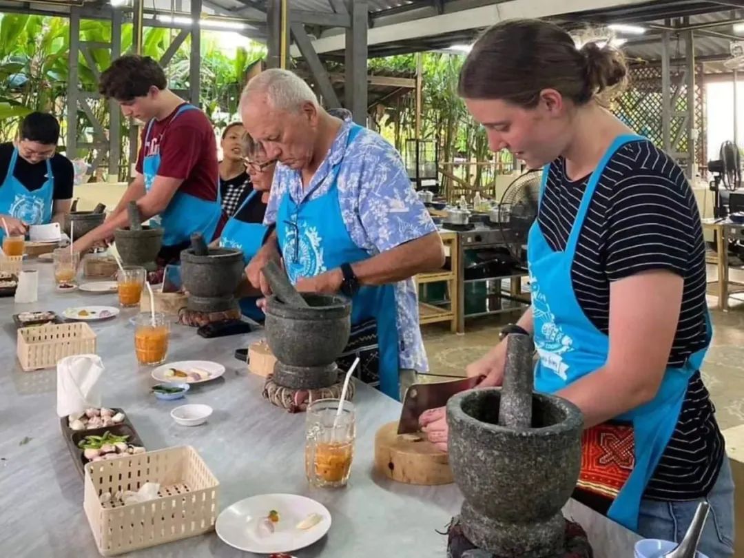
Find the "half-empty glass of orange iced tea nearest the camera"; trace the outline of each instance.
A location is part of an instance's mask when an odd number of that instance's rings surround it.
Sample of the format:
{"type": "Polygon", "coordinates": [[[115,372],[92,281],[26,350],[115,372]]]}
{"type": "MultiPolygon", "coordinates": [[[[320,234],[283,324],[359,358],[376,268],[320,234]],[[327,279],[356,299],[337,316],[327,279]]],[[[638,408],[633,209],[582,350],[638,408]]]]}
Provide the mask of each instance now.
{"type": "Polygon", "coordinates": [[[305,429],[305,475],[312,487],[346,486],[351,472],[356,437],[354,405],[339,400],[313,401],[307,408],[305,429]]]}

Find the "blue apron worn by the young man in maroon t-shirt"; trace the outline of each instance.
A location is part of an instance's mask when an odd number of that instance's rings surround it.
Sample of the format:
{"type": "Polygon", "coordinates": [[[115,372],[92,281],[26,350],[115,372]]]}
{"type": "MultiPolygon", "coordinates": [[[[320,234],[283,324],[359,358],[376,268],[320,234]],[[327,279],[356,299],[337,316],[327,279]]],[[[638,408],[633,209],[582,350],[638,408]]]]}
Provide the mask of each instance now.
{"type": "MultiPolygon", "coordinates": [[[[173,121],[187,110],[199,109],[192,105],[182,105],[176,114],[173,115],[168,126],[173,124],[173,121]]],[[[147,124],[147,133],[144,138],[145,146],[150,141],[150,131],[153,129],[154,122],[155,119],[153,118],[147,124]]],[[[158,153],[147,155],[142,161],[142,173],[144,174],[144,187],[146,191],[149,192],[150,188],[153,187],[153,182],[159,168],[160,150],[158,145],[158,153]]],[[[215,183],[215,187],[217,187],[217,183],[215,183]]],[[[173,198],[170,199],[170,203],[165,208],[165,211],[150,219],[150,225],[160,226],[164,229],[163,246],[178,246],[179,244],[187,243],[190,241],[191,234],[195,232],[201,233],[204,240],[209,243],[214,238],[221,216],[222,204],[219,200],[219,187],[217,187],[217,199],[212,201],[197,198],[179,189],[173,195],[173,198]]]]}

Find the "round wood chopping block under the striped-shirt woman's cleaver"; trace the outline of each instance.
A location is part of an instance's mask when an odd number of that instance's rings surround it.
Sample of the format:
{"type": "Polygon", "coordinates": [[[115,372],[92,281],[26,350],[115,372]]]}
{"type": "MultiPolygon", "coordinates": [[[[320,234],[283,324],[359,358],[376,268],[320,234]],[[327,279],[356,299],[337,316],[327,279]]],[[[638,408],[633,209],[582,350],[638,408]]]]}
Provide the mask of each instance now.
{"type": "Polygon", "coordinates": [[[426,440],[424,434],[398,434],[398,423],[388,423],[374,437],[375,469],[405,484],[453,482],[449,458],[426,440]]]}

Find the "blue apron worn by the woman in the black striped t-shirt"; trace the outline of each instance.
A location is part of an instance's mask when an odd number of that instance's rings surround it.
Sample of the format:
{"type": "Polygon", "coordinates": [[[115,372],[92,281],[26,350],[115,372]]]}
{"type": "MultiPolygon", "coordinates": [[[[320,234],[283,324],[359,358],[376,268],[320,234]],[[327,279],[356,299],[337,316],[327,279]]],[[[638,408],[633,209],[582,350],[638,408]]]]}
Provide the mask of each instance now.
{"type": "MultiPolygon", "coordinates": [[[[581,199],[576,221],[564,251],[553,251],[533,222],[527,239],[535,345],[539,362],[535,371],[537,391],[554,393],[605,365],[609,337],[591,324],[577,302],[571,283],[571,265],[589,202],[613,154],[624,144],[647,141],[638,135],[621,135],[591,173],[581,199]]],[[[542,174],[540,198],[548,179],[542,174]]],[[[707,312],[707,311],[706,311],[707,312]]],[[[710,320],[706,313],[708,333],[710,320]]],[[[710,339],[710,336],[709,338],[710,339]]],[[[637,530],[641,497],[676,427],[690,376],[702,365],[708,346],[690,355],[682,368],[667,368],[658,393],[649,403],[617,417],[632,423],[635,464],[620,488],[607,515],[631,530],[637,530]]]]}

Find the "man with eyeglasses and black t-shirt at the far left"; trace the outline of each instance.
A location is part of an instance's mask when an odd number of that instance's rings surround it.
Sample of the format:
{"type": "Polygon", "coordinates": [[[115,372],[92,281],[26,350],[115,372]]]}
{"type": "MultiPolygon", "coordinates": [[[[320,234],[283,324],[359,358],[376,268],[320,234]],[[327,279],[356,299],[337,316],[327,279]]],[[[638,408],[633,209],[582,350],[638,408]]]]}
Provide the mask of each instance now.
{"type": "MultiPolygon", "coordinates": [[[[15,144],[0,144],[0,217],[7,232],[26,234],[29,225],[59,222],[70,211],[74,169],[57,153],[60,123],[31,112],[23,119],[15,144]]],[[[0,240],[5,234],[0,230],[0,240]]]]}

